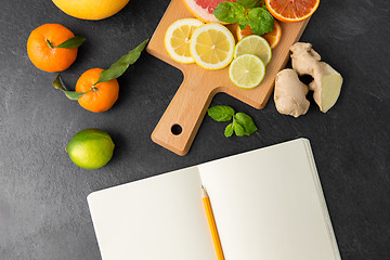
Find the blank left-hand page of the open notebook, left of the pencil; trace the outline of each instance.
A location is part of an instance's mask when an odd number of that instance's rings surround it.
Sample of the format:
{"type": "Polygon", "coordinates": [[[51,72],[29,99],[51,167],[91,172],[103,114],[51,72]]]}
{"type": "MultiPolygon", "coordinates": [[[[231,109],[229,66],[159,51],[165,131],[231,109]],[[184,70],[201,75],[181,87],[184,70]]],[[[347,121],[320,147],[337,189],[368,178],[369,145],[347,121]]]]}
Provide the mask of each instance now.
{"type": "Polygon", "coordinates": [[[88,203],[103,260],[214,260],[196,168],[94,192],[88,203]]]}

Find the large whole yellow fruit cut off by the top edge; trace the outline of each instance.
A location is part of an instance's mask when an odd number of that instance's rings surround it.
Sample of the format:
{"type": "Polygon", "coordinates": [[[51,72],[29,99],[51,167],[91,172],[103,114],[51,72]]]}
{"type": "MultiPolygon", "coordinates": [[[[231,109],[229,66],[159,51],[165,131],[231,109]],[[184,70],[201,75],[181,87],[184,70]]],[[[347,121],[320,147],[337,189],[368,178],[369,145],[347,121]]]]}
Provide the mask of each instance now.
{"type": "Polygon", "coordinates": [[[129,0],[53,0],[66,14],[82,20],[103,20],[119,12],[129,0]]]}

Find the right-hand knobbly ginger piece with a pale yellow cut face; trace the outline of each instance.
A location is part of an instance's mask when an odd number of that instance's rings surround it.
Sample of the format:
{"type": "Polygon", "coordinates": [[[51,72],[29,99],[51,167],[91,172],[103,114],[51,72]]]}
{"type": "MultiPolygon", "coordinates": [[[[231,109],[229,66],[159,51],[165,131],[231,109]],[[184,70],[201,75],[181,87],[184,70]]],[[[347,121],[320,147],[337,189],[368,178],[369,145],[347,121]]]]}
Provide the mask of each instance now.
{"type": "Polygon", "coordinates": [[[342,77],[312,49],[311,43],[297,42],[291,48],[292,68],[299,76],[310,75],[313,81],[309,89],[314,91],[313,98],[320,110],[326,113],[340,95],[342,77]]]}

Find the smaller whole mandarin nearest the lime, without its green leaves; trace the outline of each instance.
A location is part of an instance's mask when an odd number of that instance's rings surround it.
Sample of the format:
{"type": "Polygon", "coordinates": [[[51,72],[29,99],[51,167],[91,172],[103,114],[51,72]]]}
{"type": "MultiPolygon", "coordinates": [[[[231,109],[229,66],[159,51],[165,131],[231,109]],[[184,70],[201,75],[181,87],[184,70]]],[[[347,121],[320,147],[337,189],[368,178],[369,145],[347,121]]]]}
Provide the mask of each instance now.
{"type": "Polygon", "coordinates": [[[78,100],[80,106],[94,113],[108,110],[118,100],[119,94],[116,79],[95,84],[102,72],[102,68],[91,68],[84,72],[76,83],[76,92],[89,91],[78,100]]]}

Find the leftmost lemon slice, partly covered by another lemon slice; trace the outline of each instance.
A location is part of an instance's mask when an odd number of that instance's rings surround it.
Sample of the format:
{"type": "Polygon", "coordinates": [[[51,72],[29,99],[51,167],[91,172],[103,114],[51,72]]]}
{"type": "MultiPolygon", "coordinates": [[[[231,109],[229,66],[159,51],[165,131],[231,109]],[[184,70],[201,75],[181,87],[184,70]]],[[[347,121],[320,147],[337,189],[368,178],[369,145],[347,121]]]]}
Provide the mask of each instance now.
{"type": "Polygon", "coordinates": [[[190,42],[195,28],[204,25],[196,18],[178,20],[171,24],[165,36],[165,47],[169,55],[179,63],[194,63],[191,56],[190,42]]]}

